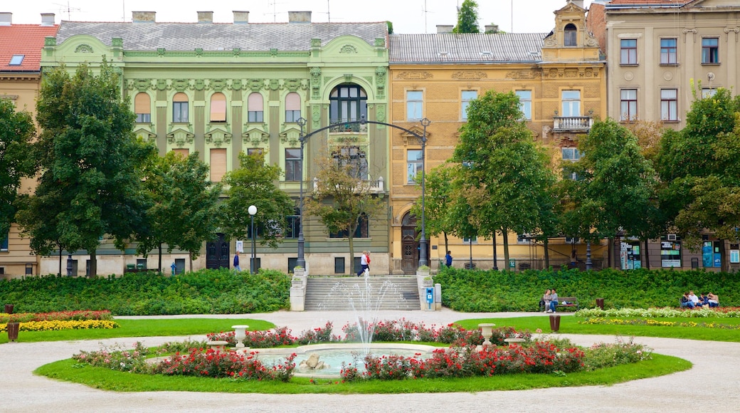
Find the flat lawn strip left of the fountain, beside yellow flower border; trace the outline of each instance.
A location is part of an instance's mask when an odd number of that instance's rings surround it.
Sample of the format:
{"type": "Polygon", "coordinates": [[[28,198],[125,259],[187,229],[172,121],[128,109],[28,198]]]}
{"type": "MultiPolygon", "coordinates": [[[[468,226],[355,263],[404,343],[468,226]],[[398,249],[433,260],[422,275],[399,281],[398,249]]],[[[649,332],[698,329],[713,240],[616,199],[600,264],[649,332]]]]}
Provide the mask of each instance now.
{"type": "MultiPolygon", "coordinates": [[[[30,343],[38,341],[101,340],[119,337],[158,337],[180,335],[206,335],[212,332],[232,330],[231,326],[246,324],[250,331],[266,330],[275,324],[251,318],[216,319],[216,318],[169,318],[149,320],[115,320],[121,327],[118,329],[65,329],[42,332],[18,333],[18,341],[30,343]]],[[[0,343],[7,343],[7,334],[0,334],[0,343]]]]}

